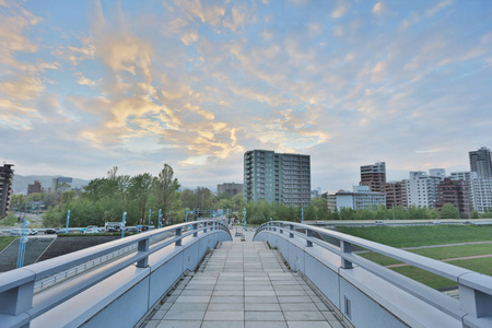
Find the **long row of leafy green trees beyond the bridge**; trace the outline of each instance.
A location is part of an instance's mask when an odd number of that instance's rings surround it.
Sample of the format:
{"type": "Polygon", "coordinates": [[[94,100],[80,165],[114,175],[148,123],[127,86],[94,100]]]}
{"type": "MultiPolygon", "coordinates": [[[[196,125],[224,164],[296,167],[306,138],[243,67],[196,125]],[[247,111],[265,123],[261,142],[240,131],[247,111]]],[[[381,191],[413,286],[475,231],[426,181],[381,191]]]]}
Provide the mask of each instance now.
{"type": "MultiPolygon", "coordinates": [[[[33,194],[27,199],[15,196],[12,203],[21,207],[26,201],[43,201],[49,207],[43,215],[45,226],[62,226],[70,210],[71,226],[104,225],[105,222],[120,221],[127,212],[127,224],[136,225],[157,223],[159,210],[162,210],[165,224],[184,222],[187,210],[230,210],[230,216],[243,219],[246,208],[247,222],[261,224],[272,220],[321,221],[321,220],[412,220],[412,219],[459,219],[459,212],[453,204],[446,204],[441,211],[429,208],[411,207],[386,209],[379,206],[373,209],[355,211],[343,208],[340,211],[327,210],[327,198],[318,197],[305,208],[257,201],[246,203],[243,194],[231,197],[229,194],[214,196],[209,189],[198,187],[195,190],[179,191],[179,183],[174,177],[173,168],[164,164],[157,176],[149,173],[136,176],[118,175],[118,167],[113,167],[105,178],[90,181],[83,192],[59,189],[51,194],[33,194]],[[149,209],[152,211],[149,213],[149,209]]],[[[206,214],[203,216],[208,216],[206,214]]],[[[197,212],[188,219],[197,218],[197,212]]],[[[473,213],[472,218],[478,218],[473,213]]]]}

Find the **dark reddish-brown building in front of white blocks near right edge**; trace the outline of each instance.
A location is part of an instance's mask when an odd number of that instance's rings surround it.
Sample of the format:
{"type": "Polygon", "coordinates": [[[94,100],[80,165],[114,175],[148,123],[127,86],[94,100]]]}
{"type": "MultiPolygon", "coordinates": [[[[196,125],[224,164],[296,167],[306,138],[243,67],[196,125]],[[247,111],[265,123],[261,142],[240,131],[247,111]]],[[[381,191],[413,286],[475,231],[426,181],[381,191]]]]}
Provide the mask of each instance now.
{"type": "Polygon", "coordinates": [[[437,201],[434,203],[434,207],[442,209],[446,203],[454,204],[461,218],[470,215],[470,196],[466,180],[444,178],[440,183],[437,186],[437,201]]]}

